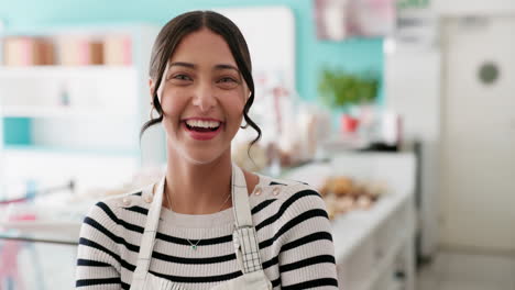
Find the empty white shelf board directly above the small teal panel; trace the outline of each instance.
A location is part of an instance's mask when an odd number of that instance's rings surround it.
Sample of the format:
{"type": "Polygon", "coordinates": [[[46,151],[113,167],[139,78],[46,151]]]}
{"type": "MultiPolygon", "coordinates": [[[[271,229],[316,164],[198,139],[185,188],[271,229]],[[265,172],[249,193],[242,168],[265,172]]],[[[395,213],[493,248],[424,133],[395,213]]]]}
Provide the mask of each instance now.
{"type": "Polygon", "coordinates": [[[7,105],[0,107],[2,118],[135,118],[131,112],[121,113],[113,110],[96,108],[7,105]]]}

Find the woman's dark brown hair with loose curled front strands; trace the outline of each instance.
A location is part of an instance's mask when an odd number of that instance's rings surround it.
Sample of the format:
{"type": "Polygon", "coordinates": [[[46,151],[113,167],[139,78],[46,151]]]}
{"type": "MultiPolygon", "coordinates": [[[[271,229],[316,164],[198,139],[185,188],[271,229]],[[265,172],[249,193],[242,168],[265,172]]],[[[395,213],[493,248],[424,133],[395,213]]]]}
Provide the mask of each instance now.
{"type": "Polygon", "coordinates": [[[252,141],[252,144],[261,138],[261,129],[249,118],[248,114],[252,103],[254,102],[254,80],[252,78],[252,64],[249,47],[246,46],[243,34],[241,34],[238,26],[231,20],[219,13],[212,11],[193,11],[180,14],[166,23],[157,35],[154,46],[152,47],[150,77],[155,83],[152,102],[158,113],[158,116],[151,119],[143,124],[140,131],[140,140],[150,126],[163,121],[163,109],[157,97],[157,90],[162,83],[167,62],[184,36],[204,27],[207,27],[213,33],[222,36],[229,45],[238,69],[251,91],[251,94],[243,107],[243,118],[246,122],[243,127],[250,125],[258,132],[258,136],[252,141]]]}

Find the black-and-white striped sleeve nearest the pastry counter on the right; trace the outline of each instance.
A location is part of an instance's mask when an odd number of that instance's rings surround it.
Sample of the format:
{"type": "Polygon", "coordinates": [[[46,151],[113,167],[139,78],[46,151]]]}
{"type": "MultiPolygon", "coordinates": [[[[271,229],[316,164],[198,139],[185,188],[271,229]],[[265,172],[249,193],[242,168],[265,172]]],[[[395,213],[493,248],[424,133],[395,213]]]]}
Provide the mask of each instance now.
{"type": "Polygon", "coordinates": [[[305,187],[288,196],[281,211],[281,288],[338,289],[331,226],[320,194],[305,187]]]}

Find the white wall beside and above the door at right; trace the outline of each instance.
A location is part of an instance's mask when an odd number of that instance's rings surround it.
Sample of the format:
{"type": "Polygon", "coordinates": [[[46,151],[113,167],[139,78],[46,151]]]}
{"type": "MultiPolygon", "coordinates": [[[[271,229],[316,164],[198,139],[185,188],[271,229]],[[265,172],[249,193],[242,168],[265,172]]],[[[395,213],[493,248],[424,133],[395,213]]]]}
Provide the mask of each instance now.
{"type": "MultiPolygon", "coordinates": [[[[423,26],[403,27],[416,43],[385,42],[385,105],[403,116],[405,138],[423,142],[420,212],[421,254],[430,256],[438,245],[439,146],[441,72],[438,37],[439,20],[448,16],[514,14],[515,0],[430,0],[430,7],[407,9],[407,19],[427,20],[423,26]],[[435,18],[432,18],[435,16],[435,18]],[[431,23],[431,20],[436,21],[431,23]],[[388,53],[393,51],[393,53],[388,53]]],[[[473,49],[473,47],[471,47],[473,49]]]]}

